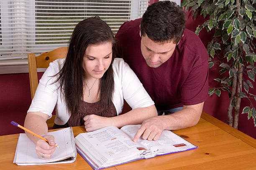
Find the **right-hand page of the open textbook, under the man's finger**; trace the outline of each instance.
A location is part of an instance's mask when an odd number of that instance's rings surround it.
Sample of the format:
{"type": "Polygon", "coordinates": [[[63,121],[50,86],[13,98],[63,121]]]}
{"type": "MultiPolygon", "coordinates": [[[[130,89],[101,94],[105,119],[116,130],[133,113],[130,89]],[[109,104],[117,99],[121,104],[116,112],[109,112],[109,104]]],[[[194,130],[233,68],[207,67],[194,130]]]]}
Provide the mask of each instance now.
{"type": "MultiPolygon", "coordinates": [[[[141,125],[126,125],[121,130],[133,139],[140,127],[141,125]]],[[[144,148],[150,150],[152,153],[151,157],[197,148],[170,130],[164,130],[160,138],[156,141],[144,140],[140,137],[137,143],[141,143],[144,148]]]]}

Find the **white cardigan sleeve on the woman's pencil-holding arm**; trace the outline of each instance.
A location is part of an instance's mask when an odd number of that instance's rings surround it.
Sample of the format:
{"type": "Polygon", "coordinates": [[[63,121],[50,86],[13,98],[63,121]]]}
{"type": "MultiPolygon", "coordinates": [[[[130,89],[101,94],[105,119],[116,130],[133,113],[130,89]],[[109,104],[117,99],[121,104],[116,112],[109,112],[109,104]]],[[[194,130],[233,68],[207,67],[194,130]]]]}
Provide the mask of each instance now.
{"type": "Polygon", "coordinates": [[[60,64],[57,61],[50,63],[49,67],[44,72],[44,75],[39,80],[35,96],[31,102],[28,112],[43,112],[51,118],[51,113],[54,110],[58,99],[59,87],[58,82],[54,83],[57,78],[54,75],[56,75],[59,70],[60,64]]]}

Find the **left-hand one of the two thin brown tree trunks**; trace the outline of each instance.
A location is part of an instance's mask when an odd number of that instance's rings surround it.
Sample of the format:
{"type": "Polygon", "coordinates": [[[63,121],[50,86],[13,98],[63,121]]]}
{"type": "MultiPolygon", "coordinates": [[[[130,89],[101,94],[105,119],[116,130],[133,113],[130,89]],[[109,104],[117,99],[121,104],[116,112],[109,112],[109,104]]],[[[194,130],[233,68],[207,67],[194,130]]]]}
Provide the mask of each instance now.
{"type": "MultiPolygon", "coordinates": [[[[237,69],[234,68],[237,72],[237,69]]],[[[236,95],[236,84],[237,84],[237,75],[235,74],[233,76],[233,81],[232,81],[232,91],[231,91],[231,97],[230,97],[230,102],[229,102],[229,106],[228,106],[228,125],[233,127],[233,115],[232,115],[232,110],[233,110],[233,106],[232,106],[232,101],[234,99],[234,96],[236,95]]]]}

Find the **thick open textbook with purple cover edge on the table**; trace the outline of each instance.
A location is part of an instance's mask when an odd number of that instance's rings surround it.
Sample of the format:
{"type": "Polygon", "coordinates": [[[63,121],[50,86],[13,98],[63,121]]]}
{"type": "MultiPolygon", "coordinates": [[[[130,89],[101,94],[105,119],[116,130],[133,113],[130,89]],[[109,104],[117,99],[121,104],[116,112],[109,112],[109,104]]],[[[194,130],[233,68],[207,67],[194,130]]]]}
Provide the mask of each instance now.
{"type": "Polygon", "coordinates": [[[170,130],[164,130],[159,140],[149,141],[133,137],[141,125],[114,126],[89,133],[80,133],[75,138],[77,152],[95,170],[108,168],[158,155],[177,153],[197,148],[170,130]]]}

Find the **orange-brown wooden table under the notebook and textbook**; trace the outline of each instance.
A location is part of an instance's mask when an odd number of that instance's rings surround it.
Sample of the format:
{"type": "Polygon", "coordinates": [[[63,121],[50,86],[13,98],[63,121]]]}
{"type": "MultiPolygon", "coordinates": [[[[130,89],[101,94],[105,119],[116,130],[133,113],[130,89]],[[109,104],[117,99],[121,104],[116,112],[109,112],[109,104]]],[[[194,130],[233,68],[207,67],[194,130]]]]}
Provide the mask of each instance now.
{"type": "MultiPolygon", "coordinates": [[[[84,133],[84,126],[74,127],[73,131],[75,136],[84,133]]],[[[106,170],[256,170],[256,140],[204,112],[197,125],[173,132],[198,148],[106,170]]],[[[79,154],[74,163],[18,166],[13,163],[18,136],[0,136],[0,169],[92,170],[79,154]]]]}

